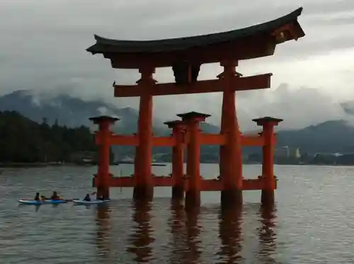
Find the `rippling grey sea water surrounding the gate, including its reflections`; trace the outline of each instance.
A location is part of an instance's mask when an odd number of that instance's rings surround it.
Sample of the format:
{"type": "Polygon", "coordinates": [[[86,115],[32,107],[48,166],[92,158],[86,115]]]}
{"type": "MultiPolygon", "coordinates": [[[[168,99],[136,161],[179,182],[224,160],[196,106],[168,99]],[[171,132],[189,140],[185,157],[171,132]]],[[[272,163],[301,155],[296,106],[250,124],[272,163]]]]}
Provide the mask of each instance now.
{"type": "MultiPolygon", "coordinates": [[[[248,175],[258,175],[253,166],[247,169],[248,175]]],[[[84,195],[93,171],[83,170],[1,174],[0,263],[297,264],[354,259],[353,168],[279,166],[277,174],[284,177],[276,209],[261,207],[259,192],[245,192],[242,208],[221,211],[219,194],[210,192],[200,208],[185,210],[171,203],[170,189],[157,188],[152,203],[132,202],[130,190],[114,194],[113,189],[106,207],[18,206],[19,197],[38,190],[60,190],[68,199],[84,195]]]]}

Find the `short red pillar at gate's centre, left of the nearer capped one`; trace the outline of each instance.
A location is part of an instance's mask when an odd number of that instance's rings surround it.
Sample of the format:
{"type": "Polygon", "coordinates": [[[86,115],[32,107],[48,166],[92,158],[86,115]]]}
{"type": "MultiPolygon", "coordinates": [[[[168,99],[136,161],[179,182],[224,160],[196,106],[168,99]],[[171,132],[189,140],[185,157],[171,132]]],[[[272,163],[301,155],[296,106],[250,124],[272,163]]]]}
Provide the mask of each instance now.
{"type": "Polygon", "coordinates": [[[164,124],[172,128],[172,136],[176,140],[176,144],[172,149],[172,199],[182,200],[184,196],[183,151],[185,125],[181,120],[165,122],[164,124]]]}

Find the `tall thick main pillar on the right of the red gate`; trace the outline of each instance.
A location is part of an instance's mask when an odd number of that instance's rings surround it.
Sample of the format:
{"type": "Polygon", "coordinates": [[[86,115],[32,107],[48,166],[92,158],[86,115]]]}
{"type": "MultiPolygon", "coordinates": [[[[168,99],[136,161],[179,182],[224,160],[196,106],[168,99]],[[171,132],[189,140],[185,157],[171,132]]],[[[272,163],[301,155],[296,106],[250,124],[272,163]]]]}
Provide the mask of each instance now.
{"type": "Polygon", "coordinates": [[[242,204],[242,152],[241,133],[236,115],[236,93],[233,91],[232,80],[241,76],[235,70],[237,62],[222,62],[224,67],[218,78],[222,80],[224,92],[222,95],[221,134],[227,138],[226,144],[220,147],[219,171],[223,190],[222,206],[242,204]]]}

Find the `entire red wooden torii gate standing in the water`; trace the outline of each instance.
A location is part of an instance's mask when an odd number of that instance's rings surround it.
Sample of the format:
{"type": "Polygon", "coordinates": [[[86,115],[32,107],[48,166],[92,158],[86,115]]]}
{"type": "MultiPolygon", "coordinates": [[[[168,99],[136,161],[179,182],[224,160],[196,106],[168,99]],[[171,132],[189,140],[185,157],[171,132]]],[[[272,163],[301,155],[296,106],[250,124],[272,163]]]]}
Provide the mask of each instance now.
{"type": "Polygon", "coordinates": [[[275,136],[273,127],[280,119],[263,117],[254,120],[263,126],[258,136],[242,135],[236,116],[235,92],[270,87],[272,74],[243,77],[235,67],[242,59],[252,59],[273,55],[276,45],[288,40],[297,40],[304,32],[297,22],[302,8],[267,23],[224,33],[200,35],[169,40],[130,41],[110,40],[95,35],[96,44],[87,50],[92,54],[101,53],[110,59],[113,68],[139,69],[141,78],[136,85],[117,85],[115,97],[139,96],[139,121],[137,135],[114,135],[109,124],[115,122],[111,117],[94,117],[100,125],[96,143],[101,145],[98,176],[94,185],[98,193],[108,197],[109,187],[134,186],[134,197],[151,199],[154,186],[174,186],[176,197],[186,192],[186,201],[200,202],[200,191],[220,190],[222,203],[241,204],[242,190],[262,190],[262,201],[274,201],[276,180],[273,175],[273,149],[275,136]],[[218,79],[197,81],[200,66],[219,62],[224,71],[218,79]],[[172,67],[176,83],[157,84],[153,79],[157,67],[172,67]],[[203,134],[199,123],[210,115],[185,113],[182,118],[169,122],[174,127],[171,137],[154,137],[152,134],[152,97],[189,93],[222,92],[222,124],[220,134],[203,134]],[[103,125],[104,124],[104,125],[103,125]],[[177,125],[178,124],[178,125],[177,125]],[[177,127],[180,127],[179,130],[177,127]],[[186,133],[183,134],[185,128],[186,133]],[[136,146],[135,173],[133,177],[112,178],[108,171],[106,152],[110,144],[129,144],[136,146]],[[199,171],[200,145],[219,144],[220,180],[202,180],[199,171]],[[262,176],[255,180],[242,177],[241,146],[263,146],[262,176]],[[108,147],[107,147],[108,146],[108,147]],[[152,175],[152,147],[173,147],[172,177],[152,175]],[[188,149],[187,180],[182,180],[183,154],[188,149]],[[104,152],[104,153],[103,153],[104,152]],[[182,158],[181,158],[182,156],[182,158]],[[179,191],[178,191],[179,190],[179,191]]]}

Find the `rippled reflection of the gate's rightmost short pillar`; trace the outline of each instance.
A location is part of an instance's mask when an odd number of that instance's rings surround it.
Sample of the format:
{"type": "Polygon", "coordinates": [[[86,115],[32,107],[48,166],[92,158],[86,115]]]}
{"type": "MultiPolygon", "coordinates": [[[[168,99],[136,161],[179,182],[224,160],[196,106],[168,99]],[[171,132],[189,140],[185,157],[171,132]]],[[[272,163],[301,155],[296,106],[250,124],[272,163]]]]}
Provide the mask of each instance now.
{"type": "Polygon", "coordinates": [[[260,263],[276,263],[273,255],[276,250],[276,236],[275,233],[275,216],[276,208],[261,206],[259,210],[259,221],[261,222],[261,227],[258,228],[258,236],[260,241],[260,249],[258,253],[258,261],[260,263]]]}

